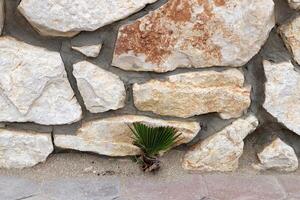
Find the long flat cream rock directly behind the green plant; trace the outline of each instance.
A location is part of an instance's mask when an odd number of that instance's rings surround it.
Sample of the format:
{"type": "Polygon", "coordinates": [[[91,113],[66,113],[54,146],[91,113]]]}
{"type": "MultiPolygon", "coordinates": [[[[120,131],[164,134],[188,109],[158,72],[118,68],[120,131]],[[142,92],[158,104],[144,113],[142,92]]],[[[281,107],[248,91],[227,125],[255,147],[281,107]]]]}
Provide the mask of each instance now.
{"type": "Polygon", "coordinates": [[[190,142],[200,131],[197,122],[164,121],[144,116],[125,115],[84,123],[76,135],[55,135],[56,146],[79,151],[95,152],[107,156],[140,154],[132,144],[128,125],[141,122],[149,126],[172,126],[182,133],[179,144],[190,142]]]}

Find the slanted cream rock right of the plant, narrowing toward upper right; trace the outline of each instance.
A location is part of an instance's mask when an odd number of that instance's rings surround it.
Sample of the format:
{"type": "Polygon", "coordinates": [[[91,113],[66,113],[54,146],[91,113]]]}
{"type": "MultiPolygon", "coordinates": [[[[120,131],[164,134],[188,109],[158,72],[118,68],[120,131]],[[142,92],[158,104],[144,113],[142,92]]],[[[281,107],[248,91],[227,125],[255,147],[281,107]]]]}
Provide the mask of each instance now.
{"type": "Polygon", "coordinates": [[[183,168],[223,172],[236,170],[243,154],[243,140],[257,126],[258,121],[254,116],[236,120],[189,151],[184,156],[183,168]]]}

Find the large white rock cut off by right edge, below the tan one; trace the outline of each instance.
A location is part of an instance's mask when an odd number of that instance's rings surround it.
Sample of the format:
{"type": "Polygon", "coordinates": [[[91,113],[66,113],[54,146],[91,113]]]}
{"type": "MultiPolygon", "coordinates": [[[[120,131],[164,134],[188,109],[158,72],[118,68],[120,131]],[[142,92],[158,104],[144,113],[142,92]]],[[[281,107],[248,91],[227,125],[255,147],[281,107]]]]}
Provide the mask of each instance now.
{"type": "Polygon", "coordinates": [[[267,77],[264,108],[300,135],[300,73],[292,63],[264,61],[267,77]]]}

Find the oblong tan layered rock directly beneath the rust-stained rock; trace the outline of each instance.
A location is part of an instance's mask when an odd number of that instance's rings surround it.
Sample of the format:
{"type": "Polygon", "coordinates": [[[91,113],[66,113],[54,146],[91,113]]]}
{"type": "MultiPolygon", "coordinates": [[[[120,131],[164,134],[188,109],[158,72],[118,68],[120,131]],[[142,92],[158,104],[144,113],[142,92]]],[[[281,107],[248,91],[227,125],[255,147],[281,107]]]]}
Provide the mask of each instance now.
{"type": "Polygon", "coordinates": [[[218,112],[236,118],[250,106],[250,88],[237,69],[224,72],[188,72],[134,84],[135,106],[160,115],[191,117],[218,112]]]}

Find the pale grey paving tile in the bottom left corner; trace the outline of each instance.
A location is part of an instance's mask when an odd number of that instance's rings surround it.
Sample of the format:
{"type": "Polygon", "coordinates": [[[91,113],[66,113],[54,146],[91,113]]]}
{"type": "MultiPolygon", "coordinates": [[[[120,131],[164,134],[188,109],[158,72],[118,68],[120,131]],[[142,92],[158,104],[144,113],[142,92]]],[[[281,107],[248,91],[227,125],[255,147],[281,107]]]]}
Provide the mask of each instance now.
{"type": "Polygon", "coordinates": [[[34,181],[0,176],[0,200],[30,198],[39,193],[39,184],[34,181]]]}

